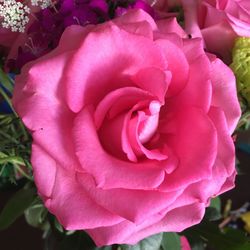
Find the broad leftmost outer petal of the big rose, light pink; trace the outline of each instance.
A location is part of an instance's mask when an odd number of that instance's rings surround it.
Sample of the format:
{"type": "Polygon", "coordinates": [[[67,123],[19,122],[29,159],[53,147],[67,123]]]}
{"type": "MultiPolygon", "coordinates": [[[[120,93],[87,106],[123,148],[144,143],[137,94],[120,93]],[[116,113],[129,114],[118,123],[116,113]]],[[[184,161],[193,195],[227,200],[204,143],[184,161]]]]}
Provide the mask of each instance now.
{"type": "Polygon", "coordinates": [[[76,168],[78,161],[71,139],[74,114],[69,112],[62,92],[58,91],[64,66],[72,54],[65,52],[50,56],[49,60],[43,58],[34,65],[31,63],[16,78],[13,104],[24,124],[32,131],[36,144],[63,167],[76,168]]]}

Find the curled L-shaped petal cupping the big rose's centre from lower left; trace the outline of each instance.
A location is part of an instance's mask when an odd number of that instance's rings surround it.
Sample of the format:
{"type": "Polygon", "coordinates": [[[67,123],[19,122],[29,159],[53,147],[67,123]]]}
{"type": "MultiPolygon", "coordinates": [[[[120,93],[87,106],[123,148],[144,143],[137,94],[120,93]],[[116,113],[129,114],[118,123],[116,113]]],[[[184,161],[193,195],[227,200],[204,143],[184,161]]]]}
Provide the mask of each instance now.
{"type": "Polygon", "coordinates": [[[100,144],[93,117],[88,108],[84,108],[77,115],[73,138],[76,155],[82,164],[79,171],[91,173],[98,187],[152,189],[163,181],[164,171],[157,167],[155,161],[134,164],[107,154],[100,144]]]}

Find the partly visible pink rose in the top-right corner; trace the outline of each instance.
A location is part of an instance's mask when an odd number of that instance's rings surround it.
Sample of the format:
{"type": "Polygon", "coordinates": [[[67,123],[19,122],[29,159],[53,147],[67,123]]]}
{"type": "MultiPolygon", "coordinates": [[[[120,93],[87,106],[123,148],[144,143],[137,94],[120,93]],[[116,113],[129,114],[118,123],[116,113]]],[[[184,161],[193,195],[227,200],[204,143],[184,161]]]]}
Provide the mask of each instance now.
{"type": "Polygon", "coordinates": [[[235,38],[250,36],[250,1],[200,0],[199,26],[207,49],[230,62],[235,38]]]}

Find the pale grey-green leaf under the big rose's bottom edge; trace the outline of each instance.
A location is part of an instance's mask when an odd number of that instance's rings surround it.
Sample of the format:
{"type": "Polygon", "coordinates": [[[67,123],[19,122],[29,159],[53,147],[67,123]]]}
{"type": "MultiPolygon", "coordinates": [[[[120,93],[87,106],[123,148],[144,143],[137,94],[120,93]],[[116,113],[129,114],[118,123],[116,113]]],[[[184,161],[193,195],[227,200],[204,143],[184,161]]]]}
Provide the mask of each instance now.
{"type": "Polygon", "coordinates": [[[123,245],[121,248],[122,250],[158,250],[161,247],[162,235],[163,233],[155,234],[136,245],[123,245]]]}

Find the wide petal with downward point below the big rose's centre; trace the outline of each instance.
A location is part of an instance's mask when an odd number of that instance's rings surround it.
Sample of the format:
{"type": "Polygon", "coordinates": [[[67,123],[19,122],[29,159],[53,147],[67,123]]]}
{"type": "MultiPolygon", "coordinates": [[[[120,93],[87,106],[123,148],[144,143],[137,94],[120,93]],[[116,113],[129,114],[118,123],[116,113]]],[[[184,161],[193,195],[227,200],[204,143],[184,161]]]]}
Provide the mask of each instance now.
{"type": "Polygon", "coordinates": [[[103,190],[95,186],[88,174],[83,173],[77,174],[77,181],[97,204],[137,225],[172,204],[181,193],[122,188],[103,190]]]}

